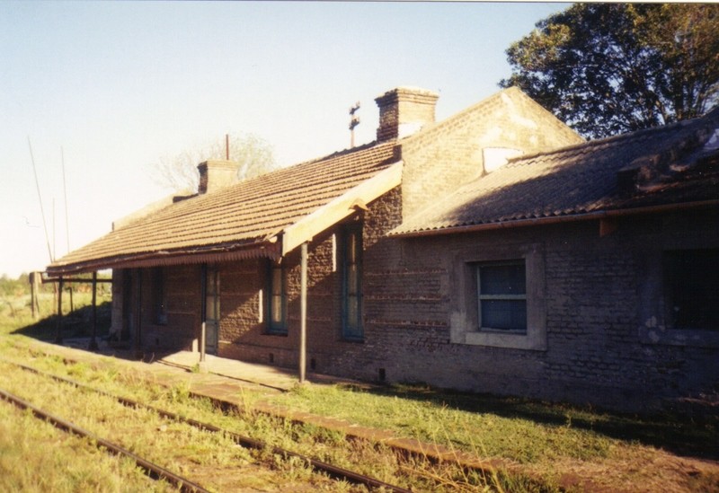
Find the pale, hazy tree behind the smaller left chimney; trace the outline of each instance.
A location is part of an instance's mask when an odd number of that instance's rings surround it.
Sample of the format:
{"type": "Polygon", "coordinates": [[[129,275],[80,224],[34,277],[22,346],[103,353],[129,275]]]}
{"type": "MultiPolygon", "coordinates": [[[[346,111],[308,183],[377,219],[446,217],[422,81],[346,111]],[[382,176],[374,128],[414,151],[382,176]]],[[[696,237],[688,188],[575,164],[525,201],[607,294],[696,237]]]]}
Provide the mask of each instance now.
{"type": "MultiPolygon", "coordinates": [[[[277,167],[271,145],[252,134],[230,136],[229,156],[241,164],[237,180],[247,180],[277,167]]],[[[200,175],[197,165],[211,159],[225,159],[225,139],[205,145],[200,149],[187,150],[182,154],[164,156],[154,164],[153,178],[159,184],[175,191],[194,192],[200,175]]]]}

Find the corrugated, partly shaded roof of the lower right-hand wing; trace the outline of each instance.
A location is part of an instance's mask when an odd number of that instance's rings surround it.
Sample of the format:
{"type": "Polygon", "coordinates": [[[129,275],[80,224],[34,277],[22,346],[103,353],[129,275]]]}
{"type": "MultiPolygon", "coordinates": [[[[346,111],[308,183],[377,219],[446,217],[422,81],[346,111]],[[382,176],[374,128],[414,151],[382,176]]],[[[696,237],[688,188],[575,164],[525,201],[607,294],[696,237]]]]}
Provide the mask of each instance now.
{"type": "Polygon", "coordinates": [[[719,149],[705,144],[719,138],[718,128],[715,110],[702,119],[515,158],[405,218],[391,234],[716,200],[719,149]]]}

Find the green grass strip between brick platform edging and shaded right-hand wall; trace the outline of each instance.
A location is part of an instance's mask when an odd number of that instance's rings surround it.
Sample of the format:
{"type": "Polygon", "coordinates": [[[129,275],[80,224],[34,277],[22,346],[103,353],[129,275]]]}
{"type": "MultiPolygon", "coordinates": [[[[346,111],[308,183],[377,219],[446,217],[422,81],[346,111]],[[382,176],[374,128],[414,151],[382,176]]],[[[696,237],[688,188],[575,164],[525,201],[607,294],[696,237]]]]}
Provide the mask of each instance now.
{"type": "Polygon", "coordinates": [[[719,418],[640,417],[421,385],[370,390],[298,386],[273,399],[291,409],[343,418],[401,436],[520,463],[606,459],[633,443],[719,458],[719,418]]]}

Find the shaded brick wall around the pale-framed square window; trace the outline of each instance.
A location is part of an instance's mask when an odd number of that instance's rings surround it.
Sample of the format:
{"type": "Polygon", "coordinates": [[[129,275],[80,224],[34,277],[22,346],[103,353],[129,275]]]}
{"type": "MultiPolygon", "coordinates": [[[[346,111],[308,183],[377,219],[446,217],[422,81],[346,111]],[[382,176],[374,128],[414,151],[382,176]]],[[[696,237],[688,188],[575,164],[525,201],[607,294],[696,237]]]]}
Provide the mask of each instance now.
{"type": "Polygon", "coordinates": [[[365,379],[383,369],[389,381],[618,409],[716,392],[719,348],[654,344],[640,335],[647,318],[657,316],[643,300],[644,292],[656,291],[649,271],[659,269],[647,259],[667,248],[719,247],[719,232],[706,228],[716,219],[632,218],[605,237],[590,222],[382,240],[373,247],[382,255],[367,253],[377,263],[365,277],[371,293],[365,344],[338,358],[334,369],[365,379]],[[450,342],[453,252],[522,243],[544,246],[546,350],[450,342]]]}

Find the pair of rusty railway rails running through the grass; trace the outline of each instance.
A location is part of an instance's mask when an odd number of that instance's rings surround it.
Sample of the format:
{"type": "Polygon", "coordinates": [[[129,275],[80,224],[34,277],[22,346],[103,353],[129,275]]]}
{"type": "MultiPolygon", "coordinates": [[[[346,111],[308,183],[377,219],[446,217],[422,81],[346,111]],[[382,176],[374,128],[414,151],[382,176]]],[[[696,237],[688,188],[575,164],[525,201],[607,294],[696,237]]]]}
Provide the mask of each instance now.
{"type": "MultiPolygon", "coordinates": [[[[253,439],[248,436],[242,436],[231,430],[226,430],[221,427],[217,427],[215,425],[205,423],[193,418],[186,418],[180,416],[177,413],[174,413],[173,411],[167,409],[160,409],[143,402],[131,400],[125,397],[112,394],[111,392],[105,392],[101,389],[91,387],[84,383],[76,382],[63,376],[49,374],[29,365],[23,365],[21,363],[16,363],[5,359],[0,359],[0,363],[4,363],[6,365],[13,365],[24,372],[35,374],[41,379],[53,380],[67,386],[74,387],[81,392],[93,392],[95,394],[103,396],[104,398],[114,400],[129,409],[142,409],[150,413],[154,413],[160,418],[164,418],[166,420],[177,423],[182,423],[183,425],[187,425],[189,427],[197,428],[203,433],[225,436],[231,441],[233,441],[236,445],[240,445],[245,449],[250,449],[254,451],[269,451],[272,455],[280,456],[285,460],[295,460],[297,462],[307,464],[312,468],[313,471],[322,472],[325,476],[334,480],[347,481],[355,485],[362,485],[368,489],[383,489],[384,491],[394,491],[398,493],[406,493],[410,491],[409,489],[404,489],[392,484],[388,484],[384,481],[371,478],[356,471],[350,471],[348,469],[338,467],[327,462],[316,460],[301,453],[292,452],[278,446],[267,445],[260,440],[253,439]]],[[[93,440],[93,442],[96,443],[98,447],[103,447],[111,453],[125,455],[129,457],[131,460],[136,462],[138,467],[146,471],[146,474],[153,479],[166,480],[174,487],[182,491],[208,491],[208,489],[204,489],[197,482],[184,478],[181,474],[169,471],[163,466],[160,466],[155,462],[141,457],[137,453],[130,452],[126,448],[123,448],[121,445],[116,444],[111,440],[97,436],[92,432],[85,430],[83,427],[75,425],[74,423],[68,421],[65,418],[60,418],[57,415],[48,412],[47,410],[40,409],[39,407],[33,405],[31,402],[25,401],[24,399],[22,399],[22,397],[18,397],[11,392],[0,389],[0,398],[4,399],[5,401],[12,402],[15,406],[21,409],[31,410],[33,416],[49,421],[53,426],[58,427],[59,429],[62,429],[77,436],[86,436],[93,440]]]]}

